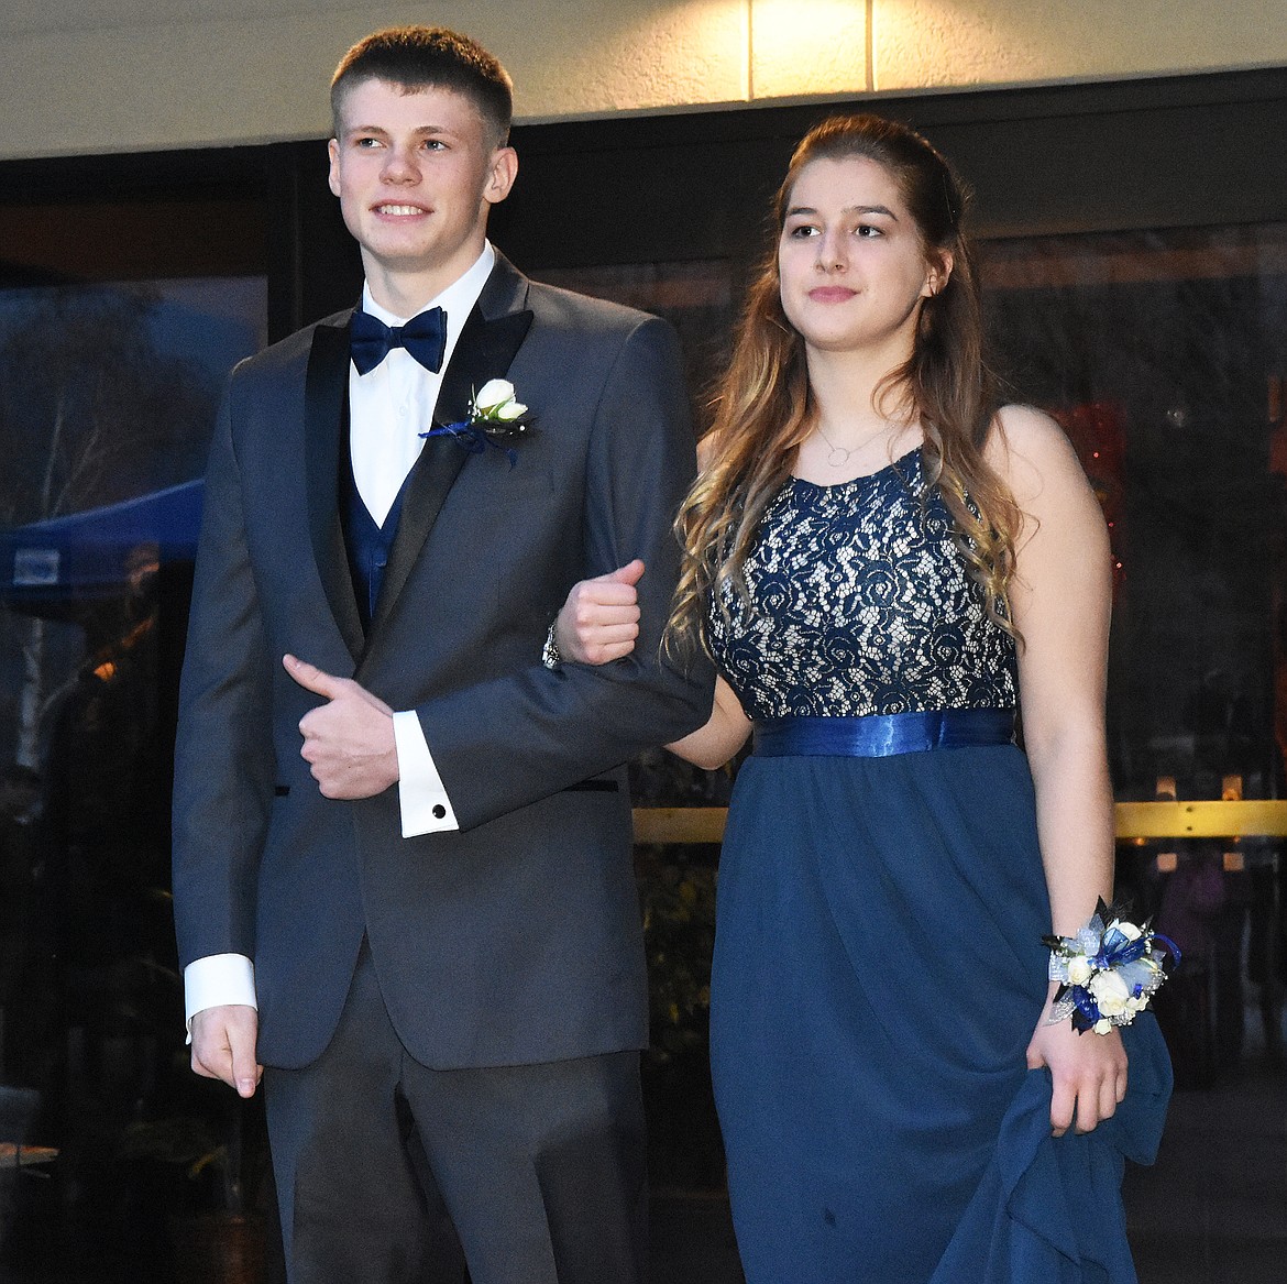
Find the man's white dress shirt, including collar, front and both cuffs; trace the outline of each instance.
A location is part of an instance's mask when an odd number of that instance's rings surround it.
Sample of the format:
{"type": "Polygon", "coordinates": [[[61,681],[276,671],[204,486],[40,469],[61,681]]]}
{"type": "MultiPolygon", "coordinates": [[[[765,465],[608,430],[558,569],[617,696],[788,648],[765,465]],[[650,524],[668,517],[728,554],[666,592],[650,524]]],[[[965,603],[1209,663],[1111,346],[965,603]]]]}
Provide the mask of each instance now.
{"type": "MultiPolygon", "coordinates": [[[[398,492],[407,480],[425,439],[434,426],[434,406],[443,386],[443,373],[495,264],[490,242],[483,246],[474,267],[449,285],[425,308],[447,313],[447,344],[441,368],[426,370],[405,348],[389,355],[366,375],[349,364],[349,452],[353,478],[367,511],[384,525],[398,492]]],[[[411,318],[394,316],[362,290],[363,310],[386,326],[403,326],[411,318]]],[[[414,710],[394,713],[394,743],[398,752],[398,802],[404,838],[444,829],[458,829],[452,800],[434,765],[425,732],[414,710]]],[[[245,954],[211,954],[194,959],[183,972],[188,1029],[192,1017],[207,1007],[245,1003],[257,1007],[255,965],[245,954]]]]}

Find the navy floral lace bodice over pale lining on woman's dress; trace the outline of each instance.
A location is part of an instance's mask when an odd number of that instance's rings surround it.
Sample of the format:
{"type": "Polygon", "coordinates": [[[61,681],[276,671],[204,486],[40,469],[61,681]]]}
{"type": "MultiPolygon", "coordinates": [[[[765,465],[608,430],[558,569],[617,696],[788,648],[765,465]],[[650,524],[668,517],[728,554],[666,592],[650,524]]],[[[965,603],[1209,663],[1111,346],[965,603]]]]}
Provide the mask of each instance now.
{"type": "Polygon", "coordinates": [[[1012,708],[1014,641],[983,612],[920,451],[837,486],[790,478],[710,647],[749,717],[1012,708]]]}

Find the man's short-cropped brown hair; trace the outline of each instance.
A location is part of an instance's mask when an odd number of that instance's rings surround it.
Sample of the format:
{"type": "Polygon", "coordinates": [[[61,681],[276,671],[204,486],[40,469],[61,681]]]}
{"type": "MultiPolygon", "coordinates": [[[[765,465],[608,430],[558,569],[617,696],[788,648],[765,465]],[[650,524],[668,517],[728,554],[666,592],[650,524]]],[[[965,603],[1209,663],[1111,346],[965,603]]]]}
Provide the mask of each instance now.
{"type": "Polygon", "coordinates": [[[467,98],[493,130],[497,146],[510,137],[514,81],[476,40],[447,27],[385,27],[359,40],[331,77],[331,118],[340,135],[344,95],[367,80],[385,80],[407,93],[450,89],[467,98]]]}

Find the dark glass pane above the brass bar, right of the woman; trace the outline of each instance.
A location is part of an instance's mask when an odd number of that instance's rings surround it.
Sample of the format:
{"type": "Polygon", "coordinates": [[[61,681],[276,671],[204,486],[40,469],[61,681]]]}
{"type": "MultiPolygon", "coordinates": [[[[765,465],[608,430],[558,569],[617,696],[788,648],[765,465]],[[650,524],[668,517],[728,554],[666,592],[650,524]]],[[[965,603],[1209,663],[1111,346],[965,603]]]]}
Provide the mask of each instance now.
{"type": "Polygon", "coordinates": [[[983,279],[1112,524],[1118,796],[1281,796],[1287,225],[992,241],[983,279]]]}

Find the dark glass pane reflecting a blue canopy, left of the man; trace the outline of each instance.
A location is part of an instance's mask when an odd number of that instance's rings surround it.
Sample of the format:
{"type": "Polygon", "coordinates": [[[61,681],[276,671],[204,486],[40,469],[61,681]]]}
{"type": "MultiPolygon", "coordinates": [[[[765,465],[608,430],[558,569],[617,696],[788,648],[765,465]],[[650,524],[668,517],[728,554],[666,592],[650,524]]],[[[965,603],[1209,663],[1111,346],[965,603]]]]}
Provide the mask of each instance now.
{"type": "Polygon", "coordinates": [[[174,707],[215,411],[265,312],[263,277],[0,290],[6,1279],[166,1278],[166,1213],[196,1198],[131,1138],[206,1110],[169,899],[174,707]]]}

